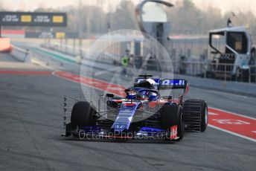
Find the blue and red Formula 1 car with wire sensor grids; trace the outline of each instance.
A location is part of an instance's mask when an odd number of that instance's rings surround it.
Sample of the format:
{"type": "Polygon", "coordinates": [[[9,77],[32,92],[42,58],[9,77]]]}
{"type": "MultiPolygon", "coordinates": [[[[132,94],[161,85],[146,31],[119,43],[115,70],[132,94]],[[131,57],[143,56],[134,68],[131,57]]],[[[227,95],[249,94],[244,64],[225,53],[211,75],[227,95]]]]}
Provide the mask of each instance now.
{"type": "Polygon", "coordinates": [[[64,116],[65,136],[180,141],[185,130],[204,132],[207,127],[207,103],[185,100],[186,80],[155,79],[145,74],[124,92],[126,97],[114,94],[97,97],[97,108],[93,100],[83,100],[81,95],[78,99],[65,96],[65,113],[68,113],[68,99],[74,100],[69,103],[74,105],[69,107],[70,116],[64,116]],[[173,97],[174,93],[170,95],[174,89],[182,91],[177,98],[173,97]],[[169,90],[167,96],[160,95],[162,90],[169,90]]]}

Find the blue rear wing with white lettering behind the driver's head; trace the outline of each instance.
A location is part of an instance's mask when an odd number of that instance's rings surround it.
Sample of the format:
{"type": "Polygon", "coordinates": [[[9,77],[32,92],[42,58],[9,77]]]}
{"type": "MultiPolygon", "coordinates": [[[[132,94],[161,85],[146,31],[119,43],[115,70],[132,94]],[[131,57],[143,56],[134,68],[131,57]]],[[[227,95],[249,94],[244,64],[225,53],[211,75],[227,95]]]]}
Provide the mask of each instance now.
{"type": "MultiPolygon", "coordinates": [[[[159,90],[166,90],[166,89],[184,89],[186,90],[188,86],[187,80],[182,79],[154,79],[156,85],[159,90]]],[[[135,84],[141,83],[141,81],[144,81],[144,78],[136,78],[135,84]]]]}

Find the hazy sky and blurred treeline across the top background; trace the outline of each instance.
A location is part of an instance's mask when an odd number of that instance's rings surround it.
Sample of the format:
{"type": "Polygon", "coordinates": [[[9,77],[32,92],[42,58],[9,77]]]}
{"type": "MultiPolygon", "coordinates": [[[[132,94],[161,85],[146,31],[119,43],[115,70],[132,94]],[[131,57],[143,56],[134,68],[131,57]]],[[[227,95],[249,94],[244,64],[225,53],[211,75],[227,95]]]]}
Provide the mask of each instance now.
{"type": "MultiPolygon", "coordinates": [[[[55,28],[68,32],[80,32],[83,38],[97,37],[100,34],[118,29],[138,29],[134,9],[139,0],[13,0],[0,1],[0,10],[31,12],[65,12],[68,14],[68,27],[55,28]]],[[[225,27],[226,20],[235,14],[234,25],[248,25],[252,36],[256,35],[255,1],[203,1],[171,0],[175,5],[167,10],[172,22],[171,36],[205,36],[208,30],[225,27]],[[220,3],[221,2],[221,3],[220,3]]],[[[16,27],[30,31],[49,28],[16,27]]]]}

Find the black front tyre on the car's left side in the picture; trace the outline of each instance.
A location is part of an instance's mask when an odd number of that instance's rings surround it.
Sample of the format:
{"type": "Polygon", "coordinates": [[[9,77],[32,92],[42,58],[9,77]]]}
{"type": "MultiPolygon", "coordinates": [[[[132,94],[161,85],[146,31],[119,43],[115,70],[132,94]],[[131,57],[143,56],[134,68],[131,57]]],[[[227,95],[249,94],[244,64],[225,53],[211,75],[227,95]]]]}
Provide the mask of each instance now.
{"type": "Polygon", "coordinates": [[[75,103],[71,112],[71,126],[94,126],[95,124],[95,110],[91,104],[84,101],[75,103]]]}

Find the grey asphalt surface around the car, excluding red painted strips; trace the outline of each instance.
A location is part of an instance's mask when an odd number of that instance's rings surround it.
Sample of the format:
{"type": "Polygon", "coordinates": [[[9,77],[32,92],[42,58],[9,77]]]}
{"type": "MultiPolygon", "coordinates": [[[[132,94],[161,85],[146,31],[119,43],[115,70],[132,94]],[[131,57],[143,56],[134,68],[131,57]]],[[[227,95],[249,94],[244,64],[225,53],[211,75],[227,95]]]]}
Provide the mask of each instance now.
{"type": "MultiPolygon", "coordinates": [[[[54,70],[79,71],[75,64],[36,58],[54,70]]],[[[63,138],[67,93],[82,93],[80,85],[51,72],[0,74],[0,170],[255,170],[255,142],[209,127],[179,143],[63,138]]],[[[193,96],[218,109],[256,115],[253,97],[191,88],[193,96]]]]}

